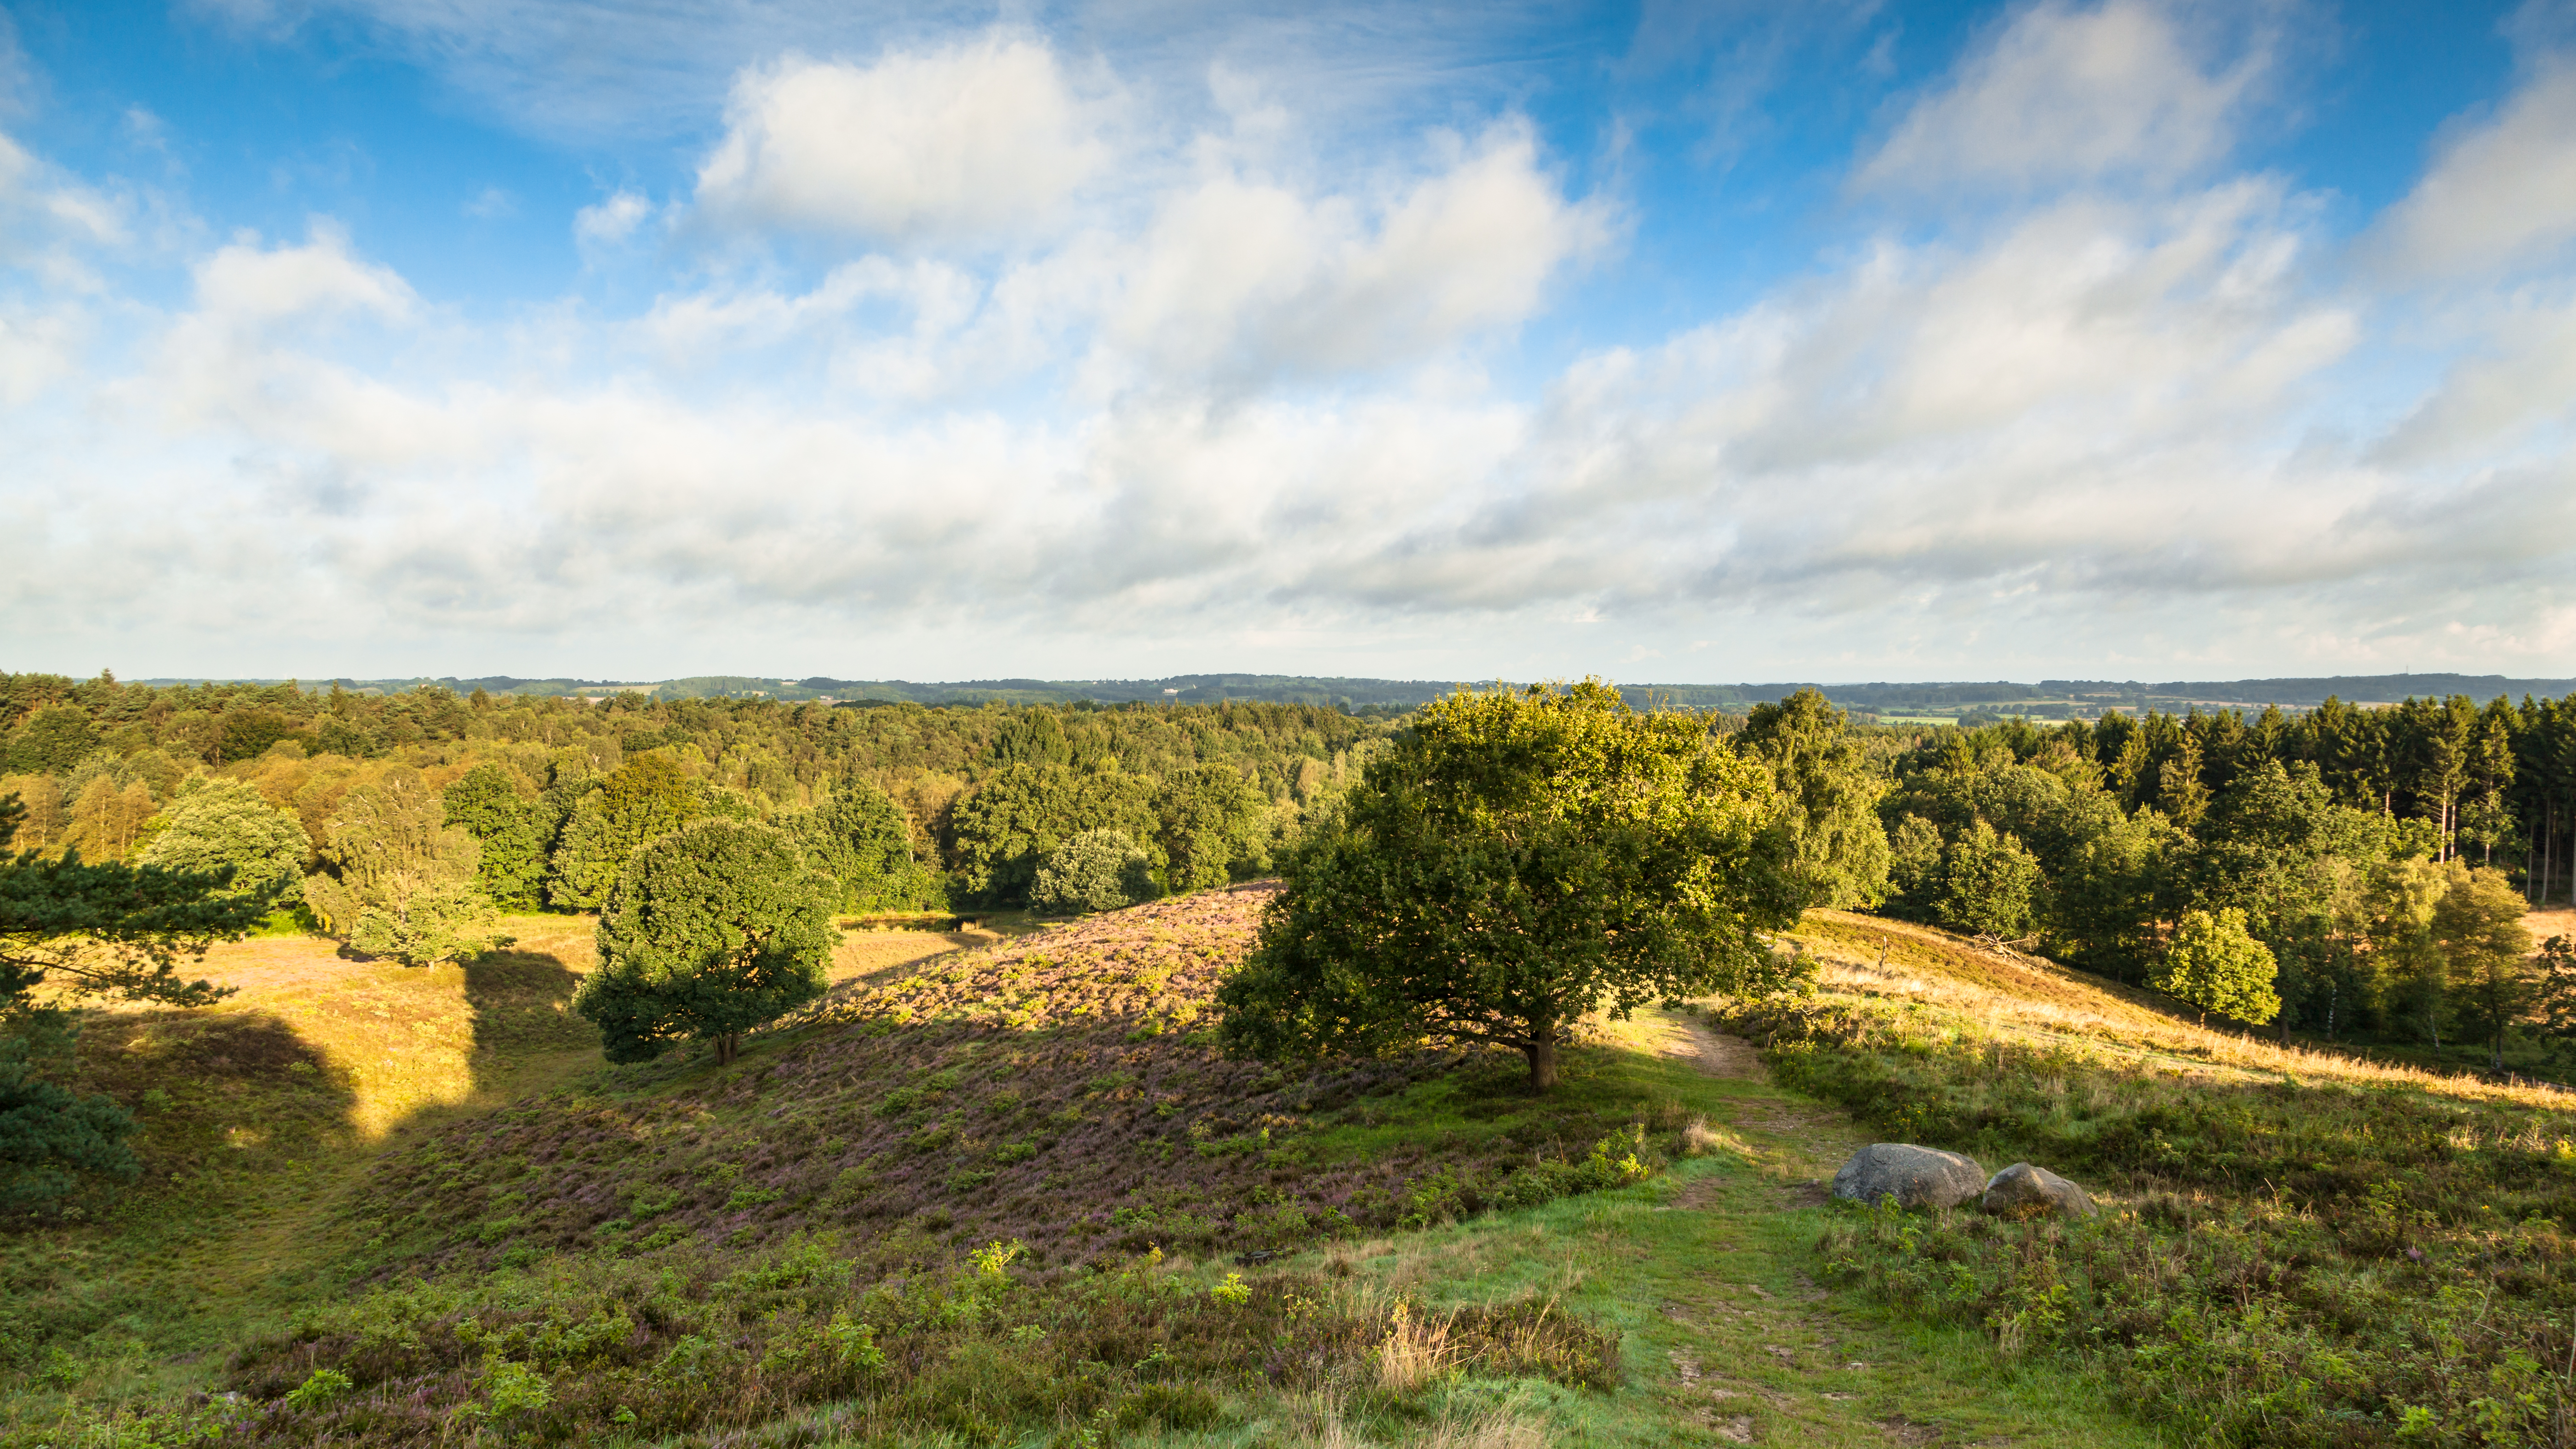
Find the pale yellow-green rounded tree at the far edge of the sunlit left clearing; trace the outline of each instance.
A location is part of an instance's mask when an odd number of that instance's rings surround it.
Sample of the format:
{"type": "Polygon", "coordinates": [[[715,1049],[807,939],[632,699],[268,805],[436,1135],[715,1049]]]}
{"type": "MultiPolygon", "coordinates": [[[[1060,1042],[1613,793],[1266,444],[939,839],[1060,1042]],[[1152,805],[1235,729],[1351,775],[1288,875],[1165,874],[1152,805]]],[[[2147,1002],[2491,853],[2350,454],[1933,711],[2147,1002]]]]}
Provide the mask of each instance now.
{"type": "Polygon", "coordinates": [[[322,874],[304,900],[325,931],[407,967],[451,962],[482,949],[492,905],[474,882],[482,848],[420,771],[394,768],[340,802],[322,843],[322,874]]]}

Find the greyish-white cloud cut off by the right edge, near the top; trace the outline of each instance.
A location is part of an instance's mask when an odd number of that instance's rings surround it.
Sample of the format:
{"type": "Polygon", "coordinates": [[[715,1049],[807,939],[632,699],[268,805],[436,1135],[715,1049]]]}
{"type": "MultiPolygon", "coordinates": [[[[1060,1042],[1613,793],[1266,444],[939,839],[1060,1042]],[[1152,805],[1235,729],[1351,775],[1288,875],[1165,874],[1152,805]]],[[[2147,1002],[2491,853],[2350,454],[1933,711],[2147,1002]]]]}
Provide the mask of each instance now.
{"type": "Polygon", "coordinates": [[[2383,222],[2403,276],[2478,276],[2548,260],[2576,240],[2576,64],[2545,70],[2460,131],[2383,222]]]}

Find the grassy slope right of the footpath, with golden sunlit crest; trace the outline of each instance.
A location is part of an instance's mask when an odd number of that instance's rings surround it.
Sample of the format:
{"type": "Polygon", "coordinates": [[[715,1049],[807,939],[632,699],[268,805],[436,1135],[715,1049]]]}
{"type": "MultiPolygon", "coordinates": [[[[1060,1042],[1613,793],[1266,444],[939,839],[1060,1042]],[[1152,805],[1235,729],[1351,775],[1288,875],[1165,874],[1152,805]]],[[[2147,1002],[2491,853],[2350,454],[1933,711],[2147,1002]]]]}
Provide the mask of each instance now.
{"type": "Polygon", "coordinates": [[[1798,938],[1819,995],[1718,1011],[1785,1085],[2115,1207],[1855,1214],[1821,1240],[1837,1281],[2105,1374],[2197,1441],[2576,1436],[2576,1096],[2202,1031],[1914,926],[1811,913],[1798,938]]]}

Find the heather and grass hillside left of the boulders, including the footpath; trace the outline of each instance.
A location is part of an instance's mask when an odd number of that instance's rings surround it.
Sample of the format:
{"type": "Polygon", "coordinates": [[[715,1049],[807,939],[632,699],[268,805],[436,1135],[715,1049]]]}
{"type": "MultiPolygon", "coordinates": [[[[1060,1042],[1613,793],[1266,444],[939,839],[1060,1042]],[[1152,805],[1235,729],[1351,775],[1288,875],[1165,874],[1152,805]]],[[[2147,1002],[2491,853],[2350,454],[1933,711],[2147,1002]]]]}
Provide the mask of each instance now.
{"type": "Polygon", "coordinates": [[[155,1176],[10,1240],[0,1444],[2159,1441],[1821,1287],[1865,1137],[1685,1013],[1540,1101],[1224,1062],[1262,900],[853,933],[726,1070],[598,1065],[562,918],[459,972],[240,946],[224,1011],[93,1029],[170,1093],[155,1176]]]}

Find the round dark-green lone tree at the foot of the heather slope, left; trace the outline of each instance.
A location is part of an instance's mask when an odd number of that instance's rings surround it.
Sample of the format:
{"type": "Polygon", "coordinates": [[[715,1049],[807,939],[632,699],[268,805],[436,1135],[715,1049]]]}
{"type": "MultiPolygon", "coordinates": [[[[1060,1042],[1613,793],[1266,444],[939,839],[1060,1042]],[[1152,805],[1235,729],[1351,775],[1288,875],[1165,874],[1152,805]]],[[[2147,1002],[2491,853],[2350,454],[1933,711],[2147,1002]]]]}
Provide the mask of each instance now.
{"type": "Polygon", "coordinates": [[[824,993],[835,882],[765,825],[706,820],[636,851],[600,915],[600,969],[574,1006],[611,1062],[711,1039],[732,1062],[742,1031],[824,993]]]}

